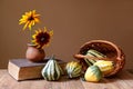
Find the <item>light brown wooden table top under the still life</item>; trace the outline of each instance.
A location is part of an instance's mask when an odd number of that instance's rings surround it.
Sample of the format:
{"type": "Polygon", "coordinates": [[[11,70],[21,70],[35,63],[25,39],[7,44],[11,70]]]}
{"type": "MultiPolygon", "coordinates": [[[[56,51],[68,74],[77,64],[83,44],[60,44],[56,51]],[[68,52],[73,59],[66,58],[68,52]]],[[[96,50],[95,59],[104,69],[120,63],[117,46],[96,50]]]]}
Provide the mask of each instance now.
{"type": "Polygon", "coordinates": [[[65,77],[59,81],[17,81],[7,70],[0,70],[0,89],[133,89],[133,70],[123,70],[113,78],[102,79],[99,83],[65,77]]]}

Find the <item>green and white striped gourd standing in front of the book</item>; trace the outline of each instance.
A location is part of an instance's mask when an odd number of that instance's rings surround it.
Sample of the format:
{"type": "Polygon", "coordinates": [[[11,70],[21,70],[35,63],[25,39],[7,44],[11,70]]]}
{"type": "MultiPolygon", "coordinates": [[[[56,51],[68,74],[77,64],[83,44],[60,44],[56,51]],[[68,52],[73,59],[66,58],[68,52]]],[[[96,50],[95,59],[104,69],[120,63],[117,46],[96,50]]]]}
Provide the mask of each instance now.
{"type": "Polygon", "coordinates": [[[61,75],[63,75],[63,70],[61,69],[57,60],[54,60],[54,57],[52,57],[44,66],[41,73],[45,80],[59,80],[61,75]]]}

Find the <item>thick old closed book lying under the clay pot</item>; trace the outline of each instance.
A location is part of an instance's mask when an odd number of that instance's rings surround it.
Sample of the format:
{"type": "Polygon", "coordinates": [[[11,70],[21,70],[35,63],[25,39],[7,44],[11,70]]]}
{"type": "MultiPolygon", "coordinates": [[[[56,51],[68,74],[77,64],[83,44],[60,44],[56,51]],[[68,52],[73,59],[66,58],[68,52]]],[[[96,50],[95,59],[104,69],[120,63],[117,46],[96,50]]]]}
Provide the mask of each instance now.
{"type": "MultiPolygon", "coordinates": [[[[16,80],[28,80],[42,78],[41,70],[45,66],[49,59],[44,59],[43,62],[32,62],[28,59],[11,59],[8,63],[8,72],[16,80]]],[[[64,68],[65,62],[57,59],[59,65],[64,68]]]]}

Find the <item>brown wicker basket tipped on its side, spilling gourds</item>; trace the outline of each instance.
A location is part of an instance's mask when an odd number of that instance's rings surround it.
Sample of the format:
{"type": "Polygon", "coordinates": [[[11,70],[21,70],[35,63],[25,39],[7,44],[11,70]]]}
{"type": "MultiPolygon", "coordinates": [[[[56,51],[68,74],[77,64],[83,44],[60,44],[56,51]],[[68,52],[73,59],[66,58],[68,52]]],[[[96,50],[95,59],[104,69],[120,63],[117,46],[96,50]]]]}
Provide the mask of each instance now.
{"type": "Polygon", "coordinates": [[[84,59],[83,56],[86,53],[89,49],[98,50],[101,53],[105,55],[109,60],[114,61],[115,67],[114,70],[111,73],[106,75],[105,77],[113,76],[123,69],[125,63],[125,55],[116,44],[106,40],[91,40],[81,46],[78,55],[74,55],[74,58],[80,60],[80,62],[83,65],[84,70],[86,70],[88,65],[83,60],[84,59]]]}

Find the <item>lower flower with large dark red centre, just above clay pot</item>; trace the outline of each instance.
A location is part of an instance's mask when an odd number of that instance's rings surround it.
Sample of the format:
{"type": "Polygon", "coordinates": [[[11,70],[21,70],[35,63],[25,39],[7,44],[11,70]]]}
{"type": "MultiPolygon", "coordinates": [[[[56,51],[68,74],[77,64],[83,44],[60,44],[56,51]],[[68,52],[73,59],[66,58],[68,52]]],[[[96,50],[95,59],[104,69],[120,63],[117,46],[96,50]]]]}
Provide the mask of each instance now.
{"type": "Polygon", "coordinates": [[[48,32],[44,27],[43,30],[35,30],[35,33],[32,34],[32,42],[37,46],[37,48],[42,49],[44,46],[49,46],[50,39],[53,36],[53,31],[48,32]]]}

